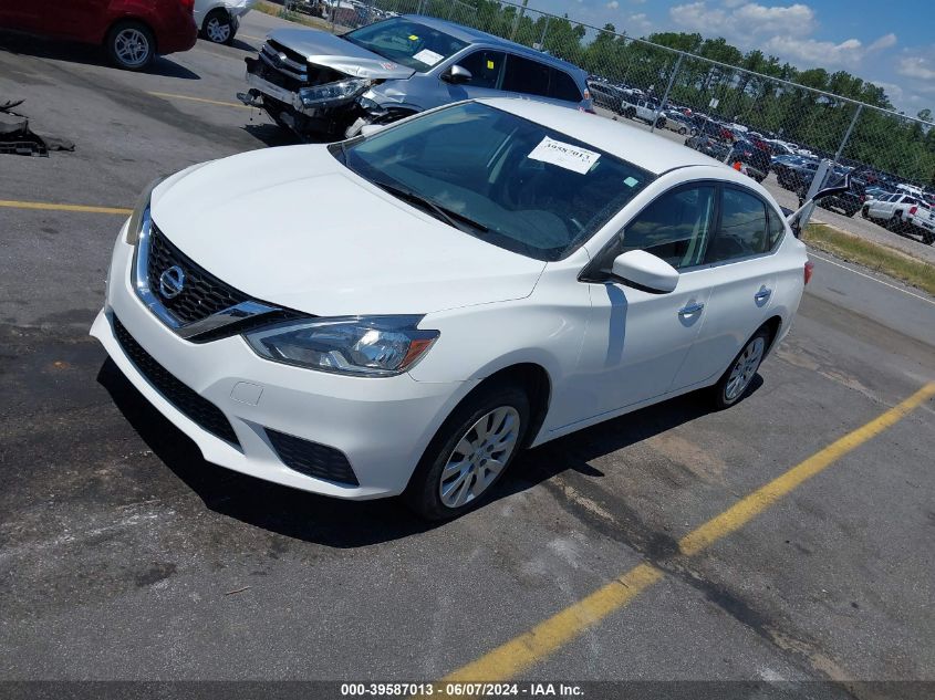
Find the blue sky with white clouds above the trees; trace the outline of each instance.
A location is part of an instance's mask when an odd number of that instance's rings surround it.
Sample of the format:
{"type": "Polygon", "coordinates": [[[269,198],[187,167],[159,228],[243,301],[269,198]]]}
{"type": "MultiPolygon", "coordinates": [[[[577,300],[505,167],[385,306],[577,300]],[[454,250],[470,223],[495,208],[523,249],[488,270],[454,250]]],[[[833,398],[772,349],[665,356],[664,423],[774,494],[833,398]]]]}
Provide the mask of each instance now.
{"type": "Polygon", "coordinates": [[[935,113],[932,0],[529,0],[529,7],[643,36],[698,32],[760,49],[799,69],[845,70],[880,85],[897,109],[935,113]]]}

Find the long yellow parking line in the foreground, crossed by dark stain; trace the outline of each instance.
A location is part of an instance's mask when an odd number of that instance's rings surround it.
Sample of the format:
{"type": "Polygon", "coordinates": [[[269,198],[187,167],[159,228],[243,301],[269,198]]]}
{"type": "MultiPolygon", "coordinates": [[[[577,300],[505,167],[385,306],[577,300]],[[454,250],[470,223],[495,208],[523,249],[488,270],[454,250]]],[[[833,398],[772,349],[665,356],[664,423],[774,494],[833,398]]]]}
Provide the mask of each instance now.
{"type": "MultiPolygon", "coordinates": [[[[685,556],[697,554],[718,540],[726,537],[804,481],[898,422],[910,411],[933,396],[935,396],[935,382],[926,384],[897,406],[819,450],[781,477],[760,487],[721,514],[693,530],[678,541],[681,553],[685,556]]],[[[541,661],[579,637],[588,628],[600,623],[611,613],[625,607],[640,593],[662,578],[663,573],[658,568],[651,564],[640,564],[586,598],[539,623],[529,631],[459,668],[440,682],[496,682],[516,678],[536,662],[541,661]]]]}

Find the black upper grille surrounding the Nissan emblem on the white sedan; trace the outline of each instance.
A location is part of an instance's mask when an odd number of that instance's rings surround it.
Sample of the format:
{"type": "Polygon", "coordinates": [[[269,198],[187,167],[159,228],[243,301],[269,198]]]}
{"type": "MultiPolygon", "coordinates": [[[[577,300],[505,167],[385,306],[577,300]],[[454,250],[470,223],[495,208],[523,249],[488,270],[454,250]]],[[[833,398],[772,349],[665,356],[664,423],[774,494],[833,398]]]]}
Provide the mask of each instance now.
{"type": "Polygon", "coordinates": [[[155,224],[149,238],[149,260],[146,270],[149,289],[179,323],[201,321],[211,314],[250,300],[250,296],[243,292],[221,282],[195,263],[173,245],[155,224]],[[159,276],[174,265],[181,268],[185,273],[185,284],[178,296],[166,299],[159,291],[159,276]]]}

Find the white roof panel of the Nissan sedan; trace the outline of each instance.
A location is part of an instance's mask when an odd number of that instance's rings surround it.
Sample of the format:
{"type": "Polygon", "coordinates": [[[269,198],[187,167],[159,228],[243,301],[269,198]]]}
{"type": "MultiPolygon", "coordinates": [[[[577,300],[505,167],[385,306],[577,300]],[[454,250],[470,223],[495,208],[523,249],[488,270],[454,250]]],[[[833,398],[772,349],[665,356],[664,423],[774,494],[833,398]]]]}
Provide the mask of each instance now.
{"type": "Polygon", "coordinates": [[[656,175],[685,166],[719,164],[663,136],[580,109],[517,97],[490,97],[478,102],[568,134],[656,175]]]}

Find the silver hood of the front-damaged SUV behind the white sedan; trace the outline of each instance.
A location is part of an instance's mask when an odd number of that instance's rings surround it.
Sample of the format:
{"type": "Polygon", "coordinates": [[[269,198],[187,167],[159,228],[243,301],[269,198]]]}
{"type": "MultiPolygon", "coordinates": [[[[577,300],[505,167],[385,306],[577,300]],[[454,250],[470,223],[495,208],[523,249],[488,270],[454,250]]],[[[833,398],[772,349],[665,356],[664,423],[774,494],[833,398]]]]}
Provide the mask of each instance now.
{"type": "Polygon", "coordinates": [[[298,51],[315,65],[371,80],[405,80],[415,71],[351,43],[346,39],[314,29],[277,29],[267,39],[298,51]]]}

